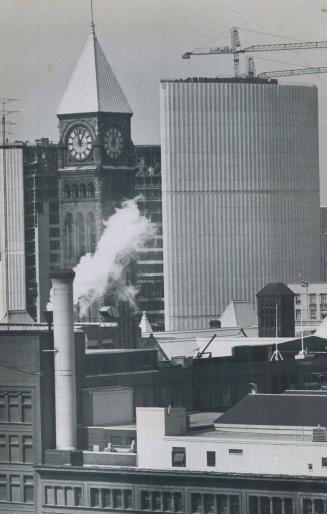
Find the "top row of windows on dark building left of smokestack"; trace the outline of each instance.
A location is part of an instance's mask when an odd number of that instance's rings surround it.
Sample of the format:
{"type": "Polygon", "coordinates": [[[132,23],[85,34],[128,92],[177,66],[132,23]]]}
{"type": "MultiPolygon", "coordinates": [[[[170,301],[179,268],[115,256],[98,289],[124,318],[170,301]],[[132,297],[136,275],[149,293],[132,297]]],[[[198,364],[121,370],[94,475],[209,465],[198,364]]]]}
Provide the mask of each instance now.
{"type": "Polygon", "coordinates": [[[0,392],[0,421],[5,423],[31,423],[31,394],[0,392]]]}

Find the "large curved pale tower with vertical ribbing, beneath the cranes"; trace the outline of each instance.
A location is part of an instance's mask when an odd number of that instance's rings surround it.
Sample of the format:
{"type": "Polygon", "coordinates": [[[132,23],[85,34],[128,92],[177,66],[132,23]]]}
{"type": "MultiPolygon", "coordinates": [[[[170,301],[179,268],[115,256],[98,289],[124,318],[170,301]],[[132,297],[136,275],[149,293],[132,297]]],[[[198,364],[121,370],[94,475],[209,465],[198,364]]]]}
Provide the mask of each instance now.
{"type": "Polygon", "coordinates": [[[195,78],[160,97],[166,330],[300,270],[319,282],[316,87],[195,78]]]}

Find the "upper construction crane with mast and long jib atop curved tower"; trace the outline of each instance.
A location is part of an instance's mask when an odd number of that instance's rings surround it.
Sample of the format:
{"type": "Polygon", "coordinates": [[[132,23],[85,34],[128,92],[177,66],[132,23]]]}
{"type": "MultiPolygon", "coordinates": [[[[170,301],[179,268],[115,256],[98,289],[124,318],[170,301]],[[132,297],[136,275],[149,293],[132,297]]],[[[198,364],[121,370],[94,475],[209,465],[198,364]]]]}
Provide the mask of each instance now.
{"type": "MultiPolygon", "coordinates": [[[[215,48],[198,48],[192,52],[183,54],[183,59],[190,59],[196,55],[226,55],[232,54],[234,60],[234,76],[240,75],[240,54],[253,52],[279,52],[280,50],[308,50],[316,48],[327,48],[327,41],[300,41],[298,43],[274,43],[271,45],[251,45],[241,48],[241,42],[237,27],[231,29],[231,46],[215,48]]],[[[322,73],[322,72],[321,72],[322,73]]],[[[295,73],[294,73],[295,75],[295,73]]]]}

